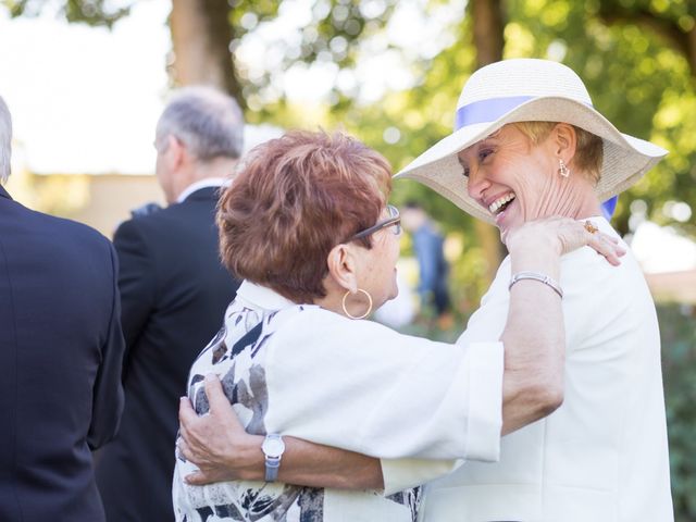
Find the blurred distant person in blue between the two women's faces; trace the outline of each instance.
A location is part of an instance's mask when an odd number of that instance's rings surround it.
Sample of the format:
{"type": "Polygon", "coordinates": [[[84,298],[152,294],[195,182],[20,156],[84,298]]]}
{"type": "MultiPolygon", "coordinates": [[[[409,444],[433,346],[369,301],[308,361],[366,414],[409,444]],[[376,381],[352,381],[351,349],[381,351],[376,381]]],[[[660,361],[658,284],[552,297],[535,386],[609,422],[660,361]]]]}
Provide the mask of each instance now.
{"type": "Polygon", "coordinates": [[[418,259],[421,313],[425,316],[434,315],[443,330],[451,327],[451,303],[447,286],[449,265],[445,259],[445,239],[425,210],[415,201],[408,201],[403,207],[401,223],[411,233],[418,259]]]}

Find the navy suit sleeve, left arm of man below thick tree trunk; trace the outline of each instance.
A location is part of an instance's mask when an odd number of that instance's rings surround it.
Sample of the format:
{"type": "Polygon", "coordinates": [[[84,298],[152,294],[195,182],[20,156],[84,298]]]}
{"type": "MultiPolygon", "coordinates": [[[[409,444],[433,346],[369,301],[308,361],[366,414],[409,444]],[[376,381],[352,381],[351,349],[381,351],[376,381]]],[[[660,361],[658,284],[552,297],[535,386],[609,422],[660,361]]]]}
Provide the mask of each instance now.
{"type": "Polygon", "coordinates": [[[136,220],[126,221],[116,229],[113,244],[120,265],[121,324],[126,339],[123,363],[125,377],[130,350],[145,330],[154,306],[156,274],[151,250],[136,220]]]}

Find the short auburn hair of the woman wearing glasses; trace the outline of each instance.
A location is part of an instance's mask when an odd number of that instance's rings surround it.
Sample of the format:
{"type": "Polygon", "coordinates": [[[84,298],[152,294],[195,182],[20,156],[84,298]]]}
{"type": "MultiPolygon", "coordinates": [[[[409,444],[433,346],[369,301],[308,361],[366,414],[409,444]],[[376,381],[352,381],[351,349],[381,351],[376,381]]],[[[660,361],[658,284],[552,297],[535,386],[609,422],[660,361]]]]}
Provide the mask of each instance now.
{"type": "MultiPolygon", "coordinates": [[[[325,297],[334,246],[374,225],[391,190],[387,160],[343,133],[293,130],[249,152],[219,203],[234,275],[295,302],[325,297]]],[[[359,240],[372,248],[371,238],[359,240]]]]}

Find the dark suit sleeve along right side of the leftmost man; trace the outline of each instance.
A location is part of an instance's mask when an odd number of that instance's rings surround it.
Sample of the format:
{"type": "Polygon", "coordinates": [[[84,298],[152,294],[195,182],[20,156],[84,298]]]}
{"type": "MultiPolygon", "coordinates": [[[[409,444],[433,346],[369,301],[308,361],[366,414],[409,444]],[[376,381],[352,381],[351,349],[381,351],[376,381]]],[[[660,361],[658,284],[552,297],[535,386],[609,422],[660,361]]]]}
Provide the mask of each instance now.
{"type": "Polygon", "coordinates": [[[119,287],[116,286],[119,262],[111,244],[105,239],[104,241],[108,245],[110,257],[110,263],[107,266],[111,269],[109,273],[111,281],[111,313],[101,346],[101,363],[97,371],[92,391],[91,423],[87,433],[87,444],[91,449],[97,449],[104,445],[116,434],[124,403],[121,372],[125,341],[121,332],[121,308],[119,287]]]}

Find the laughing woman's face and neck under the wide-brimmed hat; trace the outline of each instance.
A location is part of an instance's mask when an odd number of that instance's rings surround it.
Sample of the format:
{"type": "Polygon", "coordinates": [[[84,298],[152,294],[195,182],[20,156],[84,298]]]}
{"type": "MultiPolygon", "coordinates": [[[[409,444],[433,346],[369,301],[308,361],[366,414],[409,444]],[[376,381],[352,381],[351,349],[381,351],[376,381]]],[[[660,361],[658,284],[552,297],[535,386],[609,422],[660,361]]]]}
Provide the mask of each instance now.
{"type": "Polygon", "coordinates": [[[554,132],[533,145],[506,125],[458,154],[469,195],[495,216],[504,237],[526,221],[569,214],[573,197],[558,175],[557,148],[554,132]]]}

